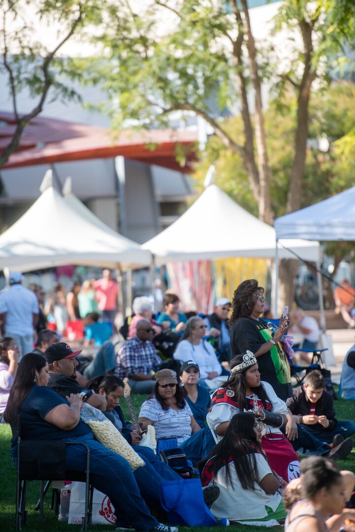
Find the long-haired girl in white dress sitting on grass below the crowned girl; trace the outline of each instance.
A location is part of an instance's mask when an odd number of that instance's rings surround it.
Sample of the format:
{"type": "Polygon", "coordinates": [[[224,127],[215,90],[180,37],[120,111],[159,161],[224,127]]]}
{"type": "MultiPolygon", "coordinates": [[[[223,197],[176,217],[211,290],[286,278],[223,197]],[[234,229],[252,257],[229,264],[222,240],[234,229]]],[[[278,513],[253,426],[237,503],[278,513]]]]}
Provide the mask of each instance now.
{"type": "Polygon", "coordinates": [[[280,481],[261,448],[261,429],[251,412],[231,419],[222,440],[200,462],[202,486],[217,485],[220,493],[211,511],[216,519],[248,525],[278,525],[286,511],[280,481]]]}

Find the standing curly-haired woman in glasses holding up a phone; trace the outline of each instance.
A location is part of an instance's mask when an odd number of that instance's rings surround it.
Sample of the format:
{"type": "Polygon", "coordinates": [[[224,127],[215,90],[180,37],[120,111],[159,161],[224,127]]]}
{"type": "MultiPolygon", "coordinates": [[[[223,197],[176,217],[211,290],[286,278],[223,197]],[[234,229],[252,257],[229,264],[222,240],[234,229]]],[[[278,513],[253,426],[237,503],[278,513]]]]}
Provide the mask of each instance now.
{"type": "Polygon", "coordinates": [[[280,343],[290,327],[288,317],[282,317],[273,333],[267,322],[260,318],[264,312],[264,288],[256,279],[241,282],[232,301],[231,348],[232,356],[251,351],[258,360],[261,380],[271,384],[280,399],[293,396],[290,364],[280,343]]]}

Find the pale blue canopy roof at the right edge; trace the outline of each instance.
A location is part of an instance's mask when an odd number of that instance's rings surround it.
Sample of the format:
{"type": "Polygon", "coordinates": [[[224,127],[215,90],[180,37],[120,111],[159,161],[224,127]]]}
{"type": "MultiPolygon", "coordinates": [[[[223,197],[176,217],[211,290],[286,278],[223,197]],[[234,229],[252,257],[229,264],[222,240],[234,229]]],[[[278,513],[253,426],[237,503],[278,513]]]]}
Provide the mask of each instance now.
{"type": "Polygon", "coordinates": [[[355,240],[355,187],[275,220],[277,238],[355,240]]]}

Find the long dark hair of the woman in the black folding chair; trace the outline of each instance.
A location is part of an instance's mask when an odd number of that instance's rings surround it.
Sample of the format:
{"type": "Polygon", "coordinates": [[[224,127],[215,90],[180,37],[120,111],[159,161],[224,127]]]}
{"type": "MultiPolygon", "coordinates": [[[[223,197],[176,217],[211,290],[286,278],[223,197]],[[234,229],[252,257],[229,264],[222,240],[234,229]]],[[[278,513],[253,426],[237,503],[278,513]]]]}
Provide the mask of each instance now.
{"type": "Polygon", "coordinates": [[[47,365],[43,355],[27,353],[22,358],[11,386],[9,400],[4,411],[4,420],[12,423],[16,420],[20,404],[26,399],[36,384],[36,370],[40,372],[47,365]]]}

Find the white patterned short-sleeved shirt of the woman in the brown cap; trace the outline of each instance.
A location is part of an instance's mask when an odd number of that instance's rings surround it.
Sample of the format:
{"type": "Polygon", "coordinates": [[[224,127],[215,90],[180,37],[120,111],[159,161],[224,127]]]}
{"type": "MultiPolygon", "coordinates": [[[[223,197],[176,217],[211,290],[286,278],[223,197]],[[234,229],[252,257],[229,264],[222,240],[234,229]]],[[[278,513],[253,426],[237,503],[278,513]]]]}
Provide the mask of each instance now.
{"type": "Polygon", "coordinates": [[[177,438],[180,445],[191,436],[191,409],[186,403],[182,410],[169,408],[163,410],[155,397],[145,401],[139,412],[140,418],[148,418],[155,421],[155,436],[157,438],[177,438]]]}

